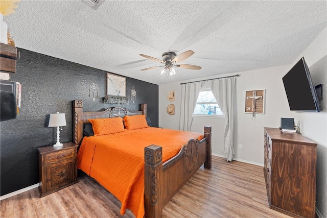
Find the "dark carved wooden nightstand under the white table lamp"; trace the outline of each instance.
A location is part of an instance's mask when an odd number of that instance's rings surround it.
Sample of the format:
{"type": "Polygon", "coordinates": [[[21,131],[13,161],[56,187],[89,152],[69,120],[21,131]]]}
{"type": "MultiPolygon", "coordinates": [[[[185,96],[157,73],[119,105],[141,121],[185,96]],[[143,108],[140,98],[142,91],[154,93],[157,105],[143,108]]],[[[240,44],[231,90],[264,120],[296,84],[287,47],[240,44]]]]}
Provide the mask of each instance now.
{"type": "Polygon", "coordinates": [[[59,148],[38,148],[41,197],[77,183],[77,147],[77,144],[69,142],[59,148]]]}

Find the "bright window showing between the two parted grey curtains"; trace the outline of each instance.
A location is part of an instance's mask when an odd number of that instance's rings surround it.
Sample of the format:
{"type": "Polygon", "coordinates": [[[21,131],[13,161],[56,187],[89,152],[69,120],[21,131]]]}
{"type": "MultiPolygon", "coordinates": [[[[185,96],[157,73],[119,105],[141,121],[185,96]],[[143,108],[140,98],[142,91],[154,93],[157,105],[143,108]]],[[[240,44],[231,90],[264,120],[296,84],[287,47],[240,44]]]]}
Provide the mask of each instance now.
{"type": "Polygon", "coordinates": [[[201,90],[193,112],[194,115],[223,115],[210,89],[201,90]]]}

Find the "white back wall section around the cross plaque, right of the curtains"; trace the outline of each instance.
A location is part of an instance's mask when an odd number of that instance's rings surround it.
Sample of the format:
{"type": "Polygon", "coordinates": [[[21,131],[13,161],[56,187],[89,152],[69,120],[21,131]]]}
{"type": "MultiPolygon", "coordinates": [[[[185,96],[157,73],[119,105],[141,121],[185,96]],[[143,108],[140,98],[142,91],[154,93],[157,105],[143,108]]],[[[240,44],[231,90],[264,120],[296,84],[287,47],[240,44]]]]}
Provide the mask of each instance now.
{"type": "Polygon", "coordinates": [[[264,162],[264,127],[278,128],[281,117],[292,117],[282,77],[288,66],[242,72],[237,78],[237,127],[235,136],[235,158],[263,165],[264,162]],[[245,113],[245,92],[265,89],[265,113],[245,113]],[[238,145],[243,144],[243,149],[238,145]]]}

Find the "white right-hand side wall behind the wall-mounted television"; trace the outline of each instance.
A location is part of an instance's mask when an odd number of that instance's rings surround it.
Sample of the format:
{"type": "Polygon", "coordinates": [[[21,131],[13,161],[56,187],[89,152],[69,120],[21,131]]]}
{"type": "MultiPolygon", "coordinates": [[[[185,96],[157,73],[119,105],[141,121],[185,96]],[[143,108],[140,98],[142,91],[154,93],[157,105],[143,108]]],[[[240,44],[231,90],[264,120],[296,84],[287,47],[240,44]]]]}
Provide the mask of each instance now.
{"type": "Polygon", "coordinates": [[[323,99],[319,113],[295,113],[302,135],[317,142],[316,208],[320,217],[327,217],[327,30],[316,37],[298,57],[305,57],[314,85],[323,84],[323,99]]]}

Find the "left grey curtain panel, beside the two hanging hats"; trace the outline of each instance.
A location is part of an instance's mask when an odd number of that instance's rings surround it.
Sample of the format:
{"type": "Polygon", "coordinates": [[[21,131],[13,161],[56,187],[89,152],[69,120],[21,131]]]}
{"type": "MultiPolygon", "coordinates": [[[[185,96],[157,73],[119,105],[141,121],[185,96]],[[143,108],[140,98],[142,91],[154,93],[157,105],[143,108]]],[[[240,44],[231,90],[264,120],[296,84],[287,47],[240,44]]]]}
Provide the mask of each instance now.
{"type": "Polygon", "coordinates": [[[191,131],[193,112],[204,82],[182,84],[179,130],[191,131]]]}

